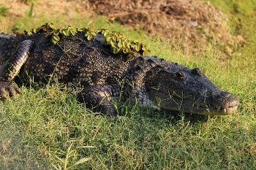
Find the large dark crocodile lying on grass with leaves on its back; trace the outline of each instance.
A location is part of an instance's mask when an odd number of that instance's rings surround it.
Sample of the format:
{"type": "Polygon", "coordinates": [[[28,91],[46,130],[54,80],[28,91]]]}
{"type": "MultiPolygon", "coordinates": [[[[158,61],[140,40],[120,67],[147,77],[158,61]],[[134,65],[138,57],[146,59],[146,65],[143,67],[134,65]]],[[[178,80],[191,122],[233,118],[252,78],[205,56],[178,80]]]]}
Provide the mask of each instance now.
{"type": "Polygon", "coordinates": [[[102,44],[106,39],[101,31],[86,37],[84,30],[76,30],[71,36],[62,30],[63,37],[56,28],[42,27],[33,34],[0,34],[1,98],[20,93],[16,84],[60,83],[68,89],[79,87],[78,101],[109,117],[118,115],[113,105],[118,99],[199,115],[231,115],[238,108],[238,98],[198,68],[143,56],[141,49],[131,50],[133,57],[114,53],[102,44]]]}

